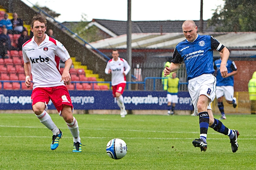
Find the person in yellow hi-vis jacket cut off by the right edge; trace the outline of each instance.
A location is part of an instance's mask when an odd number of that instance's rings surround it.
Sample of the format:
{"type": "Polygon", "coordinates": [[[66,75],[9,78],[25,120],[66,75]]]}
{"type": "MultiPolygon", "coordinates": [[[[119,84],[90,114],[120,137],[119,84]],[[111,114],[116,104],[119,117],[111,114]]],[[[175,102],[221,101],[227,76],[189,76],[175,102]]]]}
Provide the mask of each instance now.
{"type": "Polygon", "coordinates": [[[251,114],[256,113],[256,72],[252,74],[252,79],[248,83],[249,99],[251,101],[251,114]]]}

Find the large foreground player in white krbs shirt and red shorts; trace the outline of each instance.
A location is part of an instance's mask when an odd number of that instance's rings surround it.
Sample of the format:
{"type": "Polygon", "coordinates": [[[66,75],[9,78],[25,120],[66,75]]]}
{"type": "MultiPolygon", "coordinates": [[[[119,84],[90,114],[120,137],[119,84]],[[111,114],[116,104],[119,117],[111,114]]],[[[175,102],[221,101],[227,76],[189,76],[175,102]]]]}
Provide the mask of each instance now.
{"type": "Polygon", "coordinates": [[[46,112],[47,104],[49,100],[52,100],[73,136],[72,152],[81,152],[82,144],[78,123],[72,115],[74,109],[65,86],[71,81],[69,69],[72,66],[72,60],[70,55],[62,43],[45,34],[46,19],[43,16],[38,14],[32,18],[31,31],[34,33],[34,37],[23,44],[22,54],[26,74],[25,84],[28,88],[32,85],[33,78],[32,109],[40,122],[52,131],[50,148],[54,150],[59,146],[62,131],[58,129],[46,112]],[[62,75],[60,74],[60,59],[65,62],[62,75]],[[30,77],[31,74],[32,77],[30,77]]]}

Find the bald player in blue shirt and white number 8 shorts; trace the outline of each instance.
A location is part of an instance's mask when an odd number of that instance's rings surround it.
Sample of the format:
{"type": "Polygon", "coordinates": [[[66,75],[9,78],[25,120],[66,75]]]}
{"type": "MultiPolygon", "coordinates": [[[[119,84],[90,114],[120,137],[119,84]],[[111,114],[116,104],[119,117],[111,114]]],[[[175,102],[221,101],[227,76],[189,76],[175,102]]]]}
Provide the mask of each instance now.
{"type": "Polygon", "coordinates": [[[207,149],[208,127],[215,131],[228,135],[232,152],[238,150],[237,130],[228,129],[218,119],[214,119],[210,103],[215,98],[216,78],[212,75],[213,50],[223,53],[220,64],[220,73],[226,77],[228,69],[226,63],[229,57],[228,49],[210,35],[198,35],[194,21],[187,20],[182,24],[182,30],[186,39],[176,45],[170,67],[164,68],[164,75],[170,74],[180,68],[184,61],[188,74],[188,91],[192,98],[194,113],[199,116],[200,138],[192,141],[194,147],[200,147],[201,151],[207,149]]]}

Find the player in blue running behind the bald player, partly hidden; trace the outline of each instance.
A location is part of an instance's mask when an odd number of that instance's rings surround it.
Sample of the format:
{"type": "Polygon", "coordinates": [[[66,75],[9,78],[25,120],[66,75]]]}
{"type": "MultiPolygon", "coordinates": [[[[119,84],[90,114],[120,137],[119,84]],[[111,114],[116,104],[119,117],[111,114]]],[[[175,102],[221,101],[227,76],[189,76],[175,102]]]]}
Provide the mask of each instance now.
{"type": "Polygon", "coordinates": [[[226,119],[224,113],[223,97],[228,104],[233,104],[236,108],[237,102],[234,98],[234,75],[237,73],[237,67],[234,61],[228,59],[226,67],[228,69],[228,74],[223,78],[220,74],[220,63],[222,61],[222,53],[220,52],[220,59],[214,61],[214,70],[216,70],[216,98],[218,99],[218,107],[220,109],[221,117],[220,119],[226,119]]]}

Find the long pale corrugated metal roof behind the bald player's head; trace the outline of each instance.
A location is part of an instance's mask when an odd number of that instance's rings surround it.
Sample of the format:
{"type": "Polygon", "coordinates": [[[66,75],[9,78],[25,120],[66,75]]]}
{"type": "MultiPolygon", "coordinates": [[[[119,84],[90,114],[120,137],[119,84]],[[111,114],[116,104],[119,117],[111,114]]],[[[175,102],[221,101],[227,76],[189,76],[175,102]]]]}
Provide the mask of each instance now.
{"type": "MultiPolygon", "coordinates": [[[[204,33],[213,35],[228,48],[256,47],[256,32],[204,33]]],[[[134,49],[166,49],[175,46],[185,39],[183,33],[132,33],[132,48],[134,49]]],[[[126,34],[90,43],[98,49],[126,49],[126,34]]],[[[90,48],[89,46],[86,46],[90,48]]]]}

